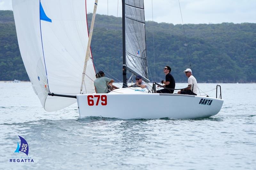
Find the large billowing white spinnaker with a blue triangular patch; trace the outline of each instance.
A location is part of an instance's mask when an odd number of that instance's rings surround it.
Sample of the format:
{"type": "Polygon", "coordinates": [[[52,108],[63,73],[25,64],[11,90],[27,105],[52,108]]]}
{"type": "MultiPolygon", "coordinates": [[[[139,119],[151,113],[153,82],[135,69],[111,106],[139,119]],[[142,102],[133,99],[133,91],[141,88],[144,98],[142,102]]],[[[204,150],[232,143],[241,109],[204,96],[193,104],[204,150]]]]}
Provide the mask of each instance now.
{"type": "MultiPolygon", "coordinates": [[[[73,98],[52,97],[48,92],[80,93],[88,43],[85,1],[18,0],[12,6],[22,60],[44,109],[54,111],[75,103],[73,98]],[[40,20],[40,2],[52,22],[40,20]]],[[[94,93],[94,79],[90,59],[84,93],[94,93]]]]}

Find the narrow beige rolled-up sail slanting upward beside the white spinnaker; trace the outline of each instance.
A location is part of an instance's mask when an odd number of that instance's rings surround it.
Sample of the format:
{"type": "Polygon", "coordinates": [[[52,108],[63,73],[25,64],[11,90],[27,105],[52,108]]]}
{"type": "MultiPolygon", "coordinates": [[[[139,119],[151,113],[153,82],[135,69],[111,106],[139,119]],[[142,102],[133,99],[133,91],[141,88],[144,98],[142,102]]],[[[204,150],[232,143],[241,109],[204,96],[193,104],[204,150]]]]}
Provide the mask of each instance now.
{"type": "Polygon", "coordinates": [[[97,5],[98,5],[98,0],[95,0],[94,9],[93,9],[93,13],[92,13],[92,23],[91,23],[91,28],[90,28],[88,45],[87,45],[87,50],[86,50],[86,55],[85,55],[85,60],[84,60],[84,70],[83,70],[83,75],[82,75],[82,83],[81,83],[81,88],[80,88],[80,94],[81,94],[81,92],[83,90],[83,86],[84,86],[84,76],[85,76],[85,71],[86,71],[86,67],[87,67],[87,62],[91,58],[90,46],[91,46],[91,41],[92,41],[92,32],[93,32],[93,27],[94,27],[97,5]]]}

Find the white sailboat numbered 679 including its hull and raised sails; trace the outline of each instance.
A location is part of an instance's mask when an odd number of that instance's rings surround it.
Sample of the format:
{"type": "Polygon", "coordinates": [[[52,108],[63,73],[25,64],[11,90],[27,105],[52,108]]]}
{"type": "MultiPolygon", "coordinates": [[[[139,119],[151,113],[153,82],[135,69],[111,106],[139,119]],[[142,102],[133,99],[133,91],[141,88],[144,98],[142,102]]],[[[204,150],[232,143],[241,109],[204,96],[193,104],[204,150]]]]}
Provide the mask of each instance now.
{"type": "MultiPolygon", "coordinates": [[[[89,48],[93,23],[88,36],[86,1],[13,0],[12,6],[22,60],[46,111],[77,101],[80,118],[195,119],[216,115],[222,107],[223,100],[217,97],[127,88],[127,70],[149,82],[142,0],[123,0],[123,88],[107,94],[94,91],[96,78],[89,48]]],[[[94,11],[96,6],[97,0],[94,11]]]]}

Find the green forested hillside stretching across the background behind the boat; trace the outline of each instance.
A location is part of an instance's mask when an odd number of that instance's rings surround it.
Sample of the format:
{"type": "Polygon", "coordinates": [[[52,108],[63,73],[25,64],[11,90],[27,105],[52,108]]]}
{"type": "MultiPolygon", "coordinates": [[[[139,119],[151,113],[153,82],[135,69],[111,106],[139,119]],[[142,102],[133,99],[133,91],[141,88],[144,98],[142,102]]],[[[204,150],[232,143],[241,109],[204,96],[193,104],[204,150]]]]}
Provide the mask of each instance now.
{"type": "MultiPolygon", "coordinates": [[[[88,25],[92,14],[88,14],[88,25]]],[[[256,82],[256,24],[186,24],[146,21],[150,80],[164,79],[169,65],[176,82],[187,82],[189,68],[198,82],[256,82]],[[153,48],[153,31],[154,47],[153,48]],[[154,71],[154,50],[155,70],[154,71]]],[[[97,70],[122,80],[122,18],[96,15],[92,55],[97,70]]],[[[113,78],[112,77],[112,78],[113,78]]],[[[12,11],[0,11],[0,80],[29,80],[22,63],[12,11]]]]}

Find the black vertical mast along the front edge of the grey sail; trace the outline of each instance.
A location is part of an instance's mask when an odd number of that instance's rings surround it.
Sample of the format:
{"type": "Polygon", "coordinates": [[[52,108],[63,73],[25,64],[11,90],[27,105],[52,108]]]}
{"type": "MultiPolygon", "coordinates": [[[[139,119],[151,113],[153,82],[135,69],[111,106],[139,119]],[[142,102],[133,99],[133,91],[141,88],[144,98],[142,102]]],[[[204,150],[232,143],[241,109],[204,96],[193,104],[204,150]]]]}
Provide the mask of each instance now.
{"type": "Polygon", "coordinates": [[[125,0],[122,0],[122,23],[123,23],[123,88],[127,87],[126,78],[126,54],[125,54],[125,0]]]}

